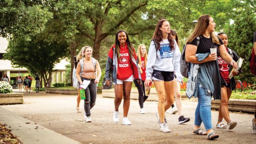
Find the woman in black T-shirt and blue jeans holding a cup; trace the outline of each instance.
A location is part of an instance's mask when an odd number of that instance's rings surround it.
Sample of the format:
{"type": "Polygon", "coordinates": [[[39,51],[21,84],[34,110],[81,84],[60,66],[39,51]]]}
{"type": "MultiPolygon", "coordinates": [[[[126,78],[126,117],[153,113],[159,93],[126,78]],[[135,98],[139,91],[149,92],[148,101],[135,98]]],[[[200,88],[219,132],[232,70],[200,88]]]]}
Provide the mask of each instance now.
{"type": "Polygon", "coordinates": [[[186,41],[185,49],[185,60],[191,63],[187,86],[193,85],[190,88],[187,87],[187,90],[198,98],[193,133],[208,135],[210,140],[219,137],[212,128],[211,96],[213,95],[214,99],[221,99],[221,85],[226,84],[218,69],[218,56],[220,55],[223,60],[237,68],[237,63],[226,51],[221,39],[213,33],[215,26],[210,15],[200,16],[193,33],[186,41]],[[210,47],[215,51],[211,53],[210,47]],[[207,133],[200,128],[202,122],[207,133]]]}

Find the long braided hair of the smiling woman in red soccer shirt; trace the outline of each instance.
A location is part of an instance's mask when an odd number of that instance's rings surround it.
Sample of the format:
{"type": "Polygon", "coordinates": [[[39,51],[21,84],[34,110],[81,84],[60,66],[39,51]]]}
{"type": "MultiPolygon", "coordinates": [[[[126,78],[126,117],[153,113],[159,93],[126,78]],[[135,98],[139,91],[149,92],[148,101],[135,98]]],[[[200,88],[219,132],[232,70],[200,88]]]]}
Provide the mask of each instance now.
{"type": "Polygon", "coordinates": [[[124,33],[125,33],[126,38],[127,38],[125,42],[127,43],[129,54],[130,54],[130,56],[133,56],[133,58],[134,58],[134,57],[135,57],[134,52],[133,52],[134,47],[131,45],[130,39],[129,39],[129,37],[128,37],[128,34],[127,34],[127,32],[124,31],[124,30],[119,30],[119,31],[117,31],[117,33],[116,33],[116,38],[115,38],[115,42],[114,42],[114,47],[115,47],[115,54],[117,55],[117,58],[120,60],[120,42],[119,42],[119,40],[118,40],[118,34],[119,34],[120,32],[124,32],[124,33]]]}

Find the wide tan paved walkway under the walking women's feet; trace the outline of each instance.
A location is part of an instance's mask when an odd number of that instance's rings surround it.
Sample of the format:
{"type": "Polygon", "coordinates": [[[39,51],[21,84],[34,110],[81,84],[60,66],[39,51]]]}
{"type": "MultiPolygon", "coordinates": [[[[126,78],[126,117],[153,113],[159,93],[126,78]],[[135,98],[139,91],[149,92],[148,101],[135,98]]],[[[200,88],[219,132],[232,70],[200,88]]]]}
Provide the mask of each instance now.
{"type": "MultiPolygon", "coordinates": [[[[230,113],[231,120],[238,122],[237,127],[232,131],[214,128],[220,137],[215,141],[209,141],[207,136],[192,134],[197,103],[184,100],[182,104],[183,115],[190,117],[191,121],[180,125],[177,114],[167,113],[167,125],[172,130],[171,133],[159,132],[160,128],[155,117],[157,102],[146,101],[144,104],[146,114],[142,115],[139,114],[139,102],[131,100],[128,113],[132,123],[130,126],[122,125],[123,104],[120,105],[120,122],[118,124],[112,122],[114,99],[102,98],[101,95],[98,95],[96,105],[91,110],[92,123],[84,123],[83,109],[82,113],[76,113],[75,95],[30,93],[25,94],[23,105],[3,105],[2,107],[82,144],[255,143],[256,134],[251,131],[253,114],[230,113]]],[[[80,107],[83,106],[81,101],[80,107]]],[[[213,126],[217,120],[218,112],[213,110],[213,126]]],[[[205,130],[203,125],[202,128],[205,130]]]]}

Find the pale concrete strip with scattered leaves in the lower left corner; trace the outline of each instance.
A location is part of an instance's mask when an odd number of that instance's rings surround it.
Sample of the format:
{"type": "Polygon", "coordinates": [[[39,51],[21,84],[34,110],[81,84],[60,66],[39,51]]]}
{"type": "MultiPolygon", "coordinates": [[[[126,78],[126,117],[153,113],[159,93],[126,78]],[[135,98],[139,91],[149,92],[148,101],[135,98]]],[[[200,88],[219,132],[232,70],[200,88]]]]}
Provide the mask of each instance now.
{"type": "Polygon", "coordinates": [[[49,130],[38,123],[27,120],[0,107],[0,122],[24,144],[80,144],[66,136],[49,130]]]}

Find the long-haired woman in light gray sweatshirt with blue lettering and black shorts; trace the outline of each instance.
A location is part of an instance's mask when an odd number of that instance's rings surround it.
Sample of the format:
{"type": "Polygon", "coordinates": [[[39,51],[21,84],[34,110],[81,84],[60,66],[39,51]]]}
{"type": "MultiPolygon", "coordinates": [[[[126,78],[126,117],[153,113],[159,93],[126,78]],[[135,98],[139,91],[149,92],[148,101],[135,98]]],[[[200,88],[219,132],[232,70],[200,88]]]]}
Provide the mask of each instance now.
{"type": "Polygon", "coordinates": [[[180,49],[170,34],[171,26],[166,19],[161,19],[155,28],[153,40],[151,41],[146,68],[145,86],[154,81],[158,94],[158,124],[162,132],[170,132],[165,111],[174,102],[174,71],[177,81],[181,81],[180,73],[180,49]],[[166,102],[165,102],[166,100],[166,102]]]}

